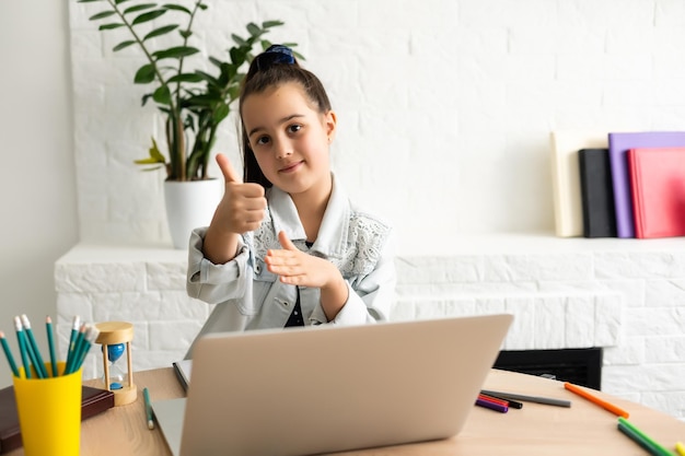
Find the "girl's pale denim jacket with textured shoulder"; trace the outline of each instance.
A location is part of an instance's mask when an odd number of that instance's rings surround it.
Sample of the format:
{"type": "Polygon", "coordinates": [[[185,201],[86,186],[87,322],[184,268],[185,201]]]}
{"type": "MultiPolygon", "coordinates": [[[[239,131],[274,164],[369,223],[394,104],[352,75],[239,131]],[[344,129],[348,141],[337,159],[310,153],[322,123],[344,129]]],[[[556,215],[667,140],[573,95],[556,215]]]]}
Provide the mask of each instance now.
{"type": "MultiPolygon", "coordinates": [[[[286,325],[297,302],[297,287],[280,282],[264,262],[269,248],[282,248],[277,235],[280,231],[285,231],[300,250],[336,265],[349,288],[345,306],[327,321],[320,289],[300,287],[305,325],[361,325],[386,320],[396,284],[392,227],[356,208],[334,178],[318,236],[306,247],[304,227],[290,195],[271,187],[266,196],[268,206],[262,225],[242,236],[236,257],[225,265],[214,265],[205,258],[206,227],[196,229],[190,235],[188,295],[217,304],[197,337],[286,325]]],[[[191,348],[187,358],[190,352],[191,348]]]]}

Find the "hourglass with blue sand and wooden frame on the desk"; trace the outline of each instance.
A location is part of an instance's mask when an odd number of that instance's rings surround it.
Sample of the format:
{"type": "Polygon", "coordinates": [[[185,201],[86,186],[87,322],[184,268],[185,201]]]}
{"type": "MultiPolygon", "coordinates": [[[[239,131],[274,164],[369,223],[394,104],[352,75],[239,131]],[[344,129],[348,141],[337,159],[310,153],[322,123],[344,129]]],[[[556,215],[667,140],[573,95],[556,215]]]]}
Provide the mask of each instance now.
{"type": "Polygon", "coordinates": [[[104,321],[95,327],[100,330],[96,343],[102,344],[103,383],[105,389],[114,393],[114,405],[131,404],[137,398],[133,385],[131,340],[133,340],[133,325],[126,321],[104,321]],[[126,353],[126,369],[124,367],[126,353]]]}

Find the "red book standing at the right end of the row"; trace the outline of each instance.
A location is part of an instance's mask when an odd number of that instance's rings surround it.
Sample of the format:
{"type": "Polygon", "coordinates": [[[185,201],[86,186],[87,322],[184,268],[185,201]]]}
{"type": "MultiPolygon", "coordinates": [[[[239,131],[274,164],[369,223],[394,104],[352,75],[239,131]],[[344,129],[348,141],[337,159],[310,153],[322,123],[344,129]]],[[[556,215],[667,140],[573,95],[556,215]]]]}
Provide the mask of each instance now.
{"type": "Polygon", "coordinates": [[[628,151],[636,237],[685,236],[685,148],[628,151]]]}

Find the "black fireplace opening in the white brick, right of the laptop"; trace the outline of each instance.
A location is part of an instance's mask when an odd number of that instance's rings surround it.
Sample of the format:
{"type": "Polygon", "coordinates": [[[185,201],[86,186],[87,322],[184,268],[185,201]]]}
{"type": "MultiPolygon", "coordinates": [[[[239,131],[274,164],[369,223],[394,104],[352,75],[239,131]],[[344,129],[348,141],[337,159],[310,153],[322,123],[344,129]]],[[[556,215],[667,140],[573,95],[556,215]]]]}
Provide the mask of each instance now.
{"type": "Polygon", "coordinates": [[[495,369],[532,375],[552,375],[589,388],[602,386],[602,348],[560,350],[502,350],[495,369]]]}

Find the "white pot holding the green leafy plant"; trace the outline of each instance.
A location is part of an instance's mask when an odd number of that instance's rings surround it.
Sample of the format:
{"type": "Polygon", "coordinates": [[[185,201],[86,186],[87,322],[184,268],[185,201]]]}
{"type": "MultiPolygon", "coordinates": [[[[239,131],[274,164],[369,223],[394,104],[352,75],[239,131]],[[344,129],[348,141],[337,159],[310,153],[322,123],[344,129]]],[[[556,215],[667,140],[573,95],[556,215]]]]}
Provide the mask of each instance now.
{"type": "Polygon", "coordinates": [[[221,179],[164,182],[166,220],[174,248],[188,248],[190,232],[209,225],[222,196],[221,179]]]}

